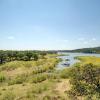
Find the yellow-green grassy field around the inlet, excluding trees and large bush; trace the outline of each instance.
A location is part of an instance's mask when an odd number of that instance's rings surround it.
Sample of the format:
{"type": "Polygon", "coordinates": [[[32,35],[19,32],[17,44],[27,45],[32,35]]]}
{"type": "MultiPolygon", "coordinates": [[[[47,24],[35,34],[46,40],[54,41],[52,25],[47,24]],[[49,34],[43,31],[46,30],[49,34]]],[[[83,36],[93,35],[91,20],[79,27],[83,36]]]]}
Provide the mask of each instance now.
{"type": "MultiPolygon", "coordinates": [[[[48,54],[37,61],[11,61],[0,65],[0,100],[84,100],[84,96],[69,97],[76,67],[55,70],[60,61],[57,56],[48,54]]],[[[77,59],[82,65],[100,64],[97,57],[77,59]]]]}

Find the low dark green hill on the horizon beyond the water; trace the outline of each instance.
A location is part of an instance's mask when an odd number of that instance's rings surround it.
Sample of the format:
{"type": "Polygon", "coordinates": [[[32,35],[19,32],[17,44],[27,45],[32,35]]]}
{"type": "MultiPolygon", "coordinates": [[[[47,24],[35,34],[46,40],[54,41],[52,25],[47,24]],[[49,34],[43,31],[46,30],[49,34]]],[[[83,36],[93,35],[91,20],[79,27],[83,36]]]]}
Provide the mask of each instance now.
{"type": "Polygon", "coordinates": [[[75,50],[59,50],[60,52],[100,53],[100,47],[81,48],[75,50]]]}

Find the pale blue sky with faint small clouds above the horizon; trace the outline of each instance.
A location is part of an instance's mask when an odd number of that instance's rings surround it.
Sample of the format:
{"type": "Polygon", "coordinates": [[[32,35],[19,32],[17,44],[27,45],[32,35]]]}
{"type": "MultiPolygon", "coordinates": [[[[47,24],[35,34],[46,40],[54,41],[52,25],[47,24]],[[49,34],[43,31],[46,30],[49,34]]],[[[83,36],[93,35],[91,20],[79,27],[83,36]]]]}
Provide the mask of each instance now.
{"type": "Polygon", "coordinates": [[[100,46],[100,0],[0,0],[0,49],[100,46]]]}

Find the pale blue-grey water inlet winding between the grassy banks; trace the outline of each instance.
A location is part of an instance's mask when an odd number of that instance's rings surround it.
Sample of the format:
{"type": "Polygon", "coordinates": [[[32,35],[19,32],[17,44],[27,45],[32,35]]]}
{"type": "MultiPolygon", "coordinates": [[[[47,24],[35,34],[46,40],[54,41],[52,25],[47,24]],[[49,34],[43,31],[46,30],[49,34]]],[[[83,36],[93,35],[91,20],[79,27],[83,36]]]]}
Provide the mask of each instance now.
{"type": "Polygon", "coordinates": [[[76,56],[95,56],[95,57],[100,57],[100,54],[90,54],[90,53],[65,53],[65,52],[59,52],[58,54],[65,54],[66,56],[60,56],[59,58],[62,59],[62,62],[58,63],[57,69],[63,69],[66,67],[69,67],[68,65],[64,64],[70,64],[72,66],[76,62],[80,62],[77,59],[74,59],[76,56]],[[66,59],[69,59],[69,61],[66,61],[66,59]]]}

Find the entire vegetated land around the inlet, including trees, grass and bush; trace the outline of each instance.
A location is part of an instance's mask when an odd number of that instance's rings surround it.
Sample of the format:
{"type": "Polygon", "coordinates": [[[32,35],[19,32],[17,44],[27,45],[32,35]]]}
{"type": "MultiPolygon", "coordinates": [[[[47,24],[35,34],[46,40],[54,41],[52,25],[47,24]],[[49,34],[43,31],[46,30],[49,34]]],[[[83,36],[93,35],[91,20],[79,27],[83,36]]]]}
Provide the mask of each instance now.
{"type": "MultiPolygon", "coordinates": [[[[1,51],[0,100],[99,100],[100,58],[56,70],[55,52],[1,51]]],[[[61,55],[60,55],[61,56],[61,55]]]]}

